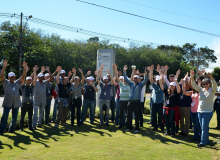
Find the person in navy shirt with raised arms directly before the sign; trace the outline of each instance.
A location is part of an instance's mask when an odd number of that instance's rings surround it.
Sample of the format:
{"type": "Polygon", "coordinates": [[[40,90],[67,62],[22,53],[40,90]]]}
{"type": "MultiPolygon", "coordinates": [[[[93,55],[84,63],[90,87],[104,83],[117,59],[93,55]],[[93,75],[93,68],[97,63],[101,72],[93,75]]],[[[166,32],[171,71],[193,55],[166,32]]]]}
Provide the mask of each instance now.
{"type": "Polygon", "coordinates": [[[103,125],[103,105],[105,104],[107,109],[106,109],[106,115],[105,115],[105,123],[106,126],[109,126],[109,108],[110,108],[110,100],[111,100],[111,88],[113,85],[113,80],[112,80],[112,76],[110,74],[110,71],[107,70],[108,75],[111,79],[111,84],[109,83],[109,78],[107,76],[103,77],[103,83],[100,82],[99,80],[99,76],[101,77],[101,72],[102,70],[100,70],[98,72],[98,76],[97,76],[97,82],[101,88],[101,94],[100,94],[100,101],[99,101],[99,110],[100,110],[100,126],[103,125]]]}

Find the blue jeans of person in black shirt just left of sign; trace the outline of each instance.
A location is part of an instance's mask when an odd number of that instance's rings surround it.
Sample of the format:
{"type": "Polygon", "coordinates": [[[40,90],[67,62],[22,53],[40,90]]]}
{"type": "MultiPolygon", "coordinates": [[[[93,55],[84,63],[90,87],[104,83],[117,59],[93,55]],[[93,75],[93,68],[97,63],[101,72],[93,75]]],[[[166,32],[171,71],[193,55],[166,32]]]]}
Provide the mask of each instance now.
{"type": "Polygon", "coordinates": [[[81,113],[81,122],[84,122],[86,120],[86,111],[89,107],[89,118],[90,118],[90,123],[93,124],[94,121],[94,101],[90,100],[84,100],[83,101],[83,108],[82,108],[82,113],[81,113]]]}

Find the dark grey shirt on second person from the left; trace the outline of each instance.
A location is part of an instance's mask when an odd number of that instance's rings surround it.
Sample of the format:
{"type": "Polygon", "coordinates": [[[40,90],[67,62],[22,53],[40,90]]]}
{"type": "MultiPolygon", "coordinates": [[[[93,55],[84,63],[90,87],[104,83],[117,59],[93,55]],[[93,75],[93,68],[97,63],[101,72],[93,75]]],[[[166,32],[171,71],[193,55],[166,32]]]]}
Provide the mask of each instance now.
{"type": "Polygon", "coordinates": [[[33,103],[33,90],[34,86],[21,85],[22,103],[33,103]]]}

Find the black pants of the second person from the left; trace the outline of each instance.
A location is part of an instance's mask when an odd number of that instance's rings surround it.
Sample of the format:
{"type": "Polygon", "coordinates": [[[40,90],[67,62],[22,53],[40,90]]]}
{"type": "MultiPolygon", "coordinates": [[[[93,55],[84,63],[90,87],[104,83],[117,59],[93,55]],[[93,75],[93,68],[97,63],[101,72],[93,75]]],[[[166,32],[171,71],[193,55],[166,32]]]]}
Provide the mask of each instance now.
{"type": "Polygon", "coordinates": [[[20,128],[23,129],[24,127],[24,117],[28,112],[28,127],[32,129],[32,117],[33,117],[33,104],[22,103],[21,107],[21,119],[20,119],[20,128]]]}

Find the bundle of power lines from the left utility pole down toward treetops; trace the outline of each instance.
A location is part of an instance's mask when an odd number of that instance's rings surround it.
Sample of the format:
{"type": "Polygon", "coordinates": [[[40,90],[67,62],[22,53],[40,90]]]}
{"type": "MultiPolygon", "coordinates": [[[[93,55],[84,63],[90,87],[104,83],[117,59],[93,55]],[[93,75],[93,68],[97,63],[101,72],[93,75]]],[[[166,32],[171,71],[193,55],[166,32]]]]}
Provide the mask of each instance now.
{"type": "MultiPolygon", "coordinates": [[[[20,16],[17,14],[0,13],[0,16],[5,16],[5,17],[11,17],[12,15],[15,18],[20,18],[20,16]]],[[[24,17],[27,18],[28,16],[24,16],[24,17]]],[[[55,22],[51,22],[51,21],[47,21],[47,20],[42,20],[42,19],[35,18],[35,17],[32,17],[31,19],[29,19],[29,22],[33,22],[33,23],[37,23],[40,25],[45,25],[45,26],[49,26],[49,27],[53,27],[53,28],[57,28],[57,29],[62,29],[62,30],[70,31],[70,32],[76,32],[79,34],[89,35],[89,36],[111,38],[111,40],[118,41],[118,42],[135,43],[135,44],[151,45],[151,46],[159,46],[160,45],[160,44],[151,43],[151,42],[144,42],[144,41],[134,40],[134,39],[130,39],[130,38],[123,38],[123,37],[113,36],[113,35],[109,35],[109,34],[99,33],[99,32],[90,31],[90,30],[86,30],[86,29],[82,29],[82,28],[76,28],[76,27],[63,25],[63,24],[59,24],[59,23],[55,23],[55,22]]]]}

